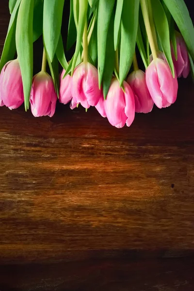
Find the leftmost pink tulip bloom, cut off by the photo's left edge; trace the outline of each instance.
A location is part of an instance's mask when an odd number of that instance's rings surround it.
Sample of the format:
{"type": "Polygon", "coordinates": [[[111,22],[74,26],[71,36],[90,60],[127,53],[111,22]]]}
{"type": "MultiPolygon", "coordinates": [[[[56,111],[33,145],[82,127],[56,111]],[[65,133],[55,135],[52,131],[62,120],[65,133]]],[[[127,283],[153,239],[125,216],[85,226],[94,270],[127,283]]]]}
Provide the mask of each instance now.
{"type": "Polygon", "coordinates": [[[18,60],[4,65],[0,73],[0,106],[16,109],[24,102],[21,71],[18,60]]]}

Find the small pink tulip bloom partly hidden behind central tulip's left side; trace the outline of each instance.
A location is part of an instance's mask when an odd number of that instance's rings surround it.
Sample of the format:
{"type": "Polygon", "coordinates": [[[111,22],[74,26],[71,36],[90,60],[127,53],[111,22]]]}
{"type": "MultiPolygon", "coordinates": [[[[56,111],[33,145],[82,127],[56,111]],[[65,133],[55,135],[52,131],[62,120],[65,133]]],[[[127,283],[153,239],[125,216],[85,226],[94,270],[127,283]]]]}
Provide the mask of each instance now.
{"type": "Polygon", "coordinates": [[[67,104],[71,101],[71,76],[67,75],[64,79],[65,70],[63,69],[60,76],[60,91],[59,91],[59,102],[67,104]]]}

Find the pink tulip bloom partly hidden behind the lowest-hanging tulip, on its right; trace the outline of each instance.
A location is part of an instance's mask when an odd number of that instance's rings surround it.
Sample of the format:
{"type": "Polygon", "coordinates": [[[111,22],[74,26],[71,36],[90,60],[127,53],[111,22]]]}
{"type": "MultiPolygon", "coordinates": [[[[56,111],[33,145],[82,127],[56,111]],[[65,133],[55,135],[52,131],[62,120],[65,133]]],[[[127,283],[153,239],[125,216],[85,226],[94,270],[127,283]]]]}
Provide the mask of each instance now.
{"type": "Polygon", "coordinates": [[[142,70],[133,71],[127,80],[135,99],[135,112],[148,113],[152,111],[154,102],[146,85],[146,74],[142,70]]]}

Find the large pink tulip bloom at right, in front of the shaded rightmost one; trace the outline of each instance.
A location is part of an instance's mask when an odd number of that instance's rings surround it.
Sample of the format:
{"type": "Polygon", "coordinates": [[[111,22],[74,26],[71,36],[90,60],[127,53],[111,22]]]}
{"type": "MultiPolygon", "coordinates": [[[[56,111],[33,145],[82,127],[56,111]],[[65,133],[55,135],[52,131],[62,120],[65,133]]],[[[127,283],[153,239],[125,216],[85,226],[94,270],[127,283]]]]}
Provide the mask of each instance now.
{"type": "Polygon", "coordinates": [[[168,107],[176,101],[177,76],[173,78],[166,61],[157,58],[151,62],[146,69],[146,84],[154,103],[159,108],[168,107]]]}

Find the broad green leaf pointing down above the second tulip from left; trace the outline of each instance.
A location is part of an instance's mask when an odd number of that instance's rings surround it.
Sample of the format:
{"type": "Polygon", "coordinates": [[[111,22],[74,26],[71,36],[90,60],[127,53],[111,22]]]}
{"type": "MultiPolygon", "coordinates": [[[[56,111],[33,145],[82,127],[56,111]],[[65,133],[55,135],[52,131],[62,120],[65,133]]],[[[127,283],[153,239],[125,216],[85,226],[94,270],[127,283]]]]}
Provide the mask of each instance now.
{"type": "Polygon", "coordinates": [[[44,0],[43,36],[52,62],[61,33],[64,0],[44,0]]]}

